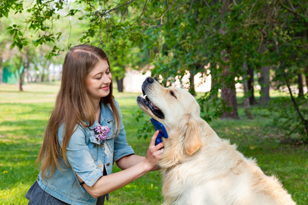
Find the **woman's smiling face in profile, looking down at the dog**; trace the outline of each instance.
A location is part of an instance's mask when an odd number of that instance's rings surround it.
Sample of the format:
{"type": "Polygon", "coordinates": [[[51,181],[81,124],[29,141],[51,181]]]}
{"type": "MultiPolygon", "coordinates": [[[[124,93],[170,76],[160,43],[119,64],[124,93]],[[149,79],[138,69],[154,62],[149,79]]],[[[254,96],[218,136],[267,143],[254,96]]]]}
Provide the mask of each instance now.
{"type": "Polygon", "coordinates": [[[110,93],[112,74],[105,60],[99,60],[97,66],[86,77],[87,90],[93,100],[101,100],[110,93]]]}

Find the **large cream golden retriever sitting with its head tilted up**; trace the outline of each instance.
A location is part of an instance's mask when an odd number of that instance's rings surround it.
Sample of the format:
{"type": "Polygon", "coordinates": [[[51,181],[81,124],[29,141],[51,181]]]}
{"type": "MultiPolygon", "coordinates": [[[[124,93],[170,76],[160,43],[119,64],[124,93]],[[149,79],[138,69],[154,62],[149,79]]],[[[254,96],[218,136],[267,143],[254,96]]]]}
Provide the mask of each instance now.
{"type": "Polygon", "coordinates": [[[188,91],[147,77],[142,94],[138,106],[168,133],[158,162],[164,204],[296,204],[277,178],[218,137],[188,91]]]}

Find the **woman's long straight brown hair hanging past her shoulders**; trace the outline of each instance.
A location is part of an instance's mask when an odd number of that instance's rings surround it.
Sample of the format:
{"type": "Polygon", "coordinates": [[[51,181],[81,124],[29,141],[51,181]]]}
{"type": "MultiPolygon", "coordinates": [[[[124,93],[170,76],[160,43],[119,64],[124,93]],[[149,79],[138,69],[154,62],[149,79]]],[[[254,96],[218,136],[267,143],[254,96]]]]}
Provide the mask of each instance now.
{"type": "MultiPolygon", "coordinates": [[[[64,163],[68,164],[66,148],[77,126],[82,124],[90,127],[95,122],[94,103],[86,89],[86,77],[98,64],[99,59],[106,60],[110,66],[105,52],[95,46],[87,44],[75,46],[66,54],[62,68],[60,92],[57,94],[55,109],[47,124],[42,148],[36,160],[41,165],[42,178],[52,176],[56,166],[62,169],[60,166],[62,157],[64,163]],[[57,131],[62,123],[64,123],[64,133],[61,147],[57,140],[57,131]]],[[[114,96],[112,96],[112,83],[110,83],[110,94],[103,98],[103,102],[110,103],[112,107],[116,122],[114,133],[118,133],[120,117],[114,96]]]]}

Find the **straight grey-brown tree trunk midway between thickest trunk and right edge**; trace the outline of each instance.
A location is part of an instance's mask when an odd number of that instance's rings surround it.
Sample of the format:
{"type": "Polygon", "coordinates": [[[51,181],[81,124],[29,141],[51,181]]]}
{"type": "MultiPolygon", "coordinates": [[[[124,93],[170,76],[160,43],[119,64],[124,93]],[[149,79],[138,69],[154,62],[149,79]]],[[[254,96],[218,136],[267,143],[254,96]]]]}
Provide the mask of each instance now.
{"type": "Polygon", "coordinates": [[[270,66],[261,68],[259,83],[261,85],[260,104],[266,105],[270,101],[270,66]]]}

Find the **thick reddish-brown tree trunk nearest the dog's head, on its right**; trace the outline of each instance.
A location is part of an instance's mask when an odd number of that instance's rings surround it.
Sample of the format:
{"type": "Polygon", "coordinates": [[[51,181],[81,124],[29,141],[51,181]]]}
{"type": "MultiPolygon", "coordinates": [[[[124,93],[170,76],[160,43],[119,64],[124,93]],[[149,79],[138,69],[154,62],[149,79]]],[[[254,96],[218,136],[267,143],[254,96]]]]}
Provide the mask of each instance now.
{"type": "Polygon", "coordinates": [[[224,111],[222,118],[234,118],[238,117],[238,102],[236,99],[235,81],[231,80],[231,72],[229,72],[229,66],[225,66],[222,72],[222,87],[221,87],[221,98],[226,102],[227,107],[231,108],[231,111],[224,111]],[[227,80],[229,78],[229,81],[227,80]]]}

